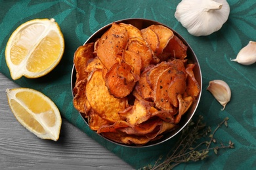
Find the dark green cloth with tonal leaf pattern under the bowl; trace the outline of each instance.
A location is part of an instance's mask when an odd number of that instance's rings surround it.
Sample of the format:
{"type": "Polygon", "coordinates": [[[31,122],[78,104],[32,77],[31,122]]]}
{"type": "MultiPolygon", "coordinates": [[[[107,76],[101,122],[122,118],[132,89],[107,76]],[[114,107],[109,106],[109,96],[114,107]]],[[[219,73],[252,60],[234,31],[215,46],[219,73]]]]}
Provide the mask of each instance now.
{"type": "MultiPolygon", "coordinates": [[[[0,71],[11,78],[5,62],[5,46],[11,33],[21,24],[35,18],[54,18],[65,39],[64,56],[58,66],[46,76],[15,80],[22,87],[45,93],[56,103],[62,118],[84,131],[135,169],[154,163],[173,146],[176,138],[146,148],[128,148],[110,143],[87,127],[72,104],[70,77],[74,52],[97,29],[116,20],[146,18],[156,20],[180,33],[196,53],[203,76],[202,97],[196,115],[203,115],[213,129],[225,117],[228,127],[217,131],[217,141],[235,143],[234,149],[220,150],[203,161],[183,163],[181,169],[256,169],[256,67],[240,65],[230,58],[249,41],[256,41],[256,1],[228,0],[230,16],[221,30],[194,37],[182,27],[174,14],[180,1],[0,1],[0,71]],[[206,88],[210,80],[221,79],[232,90],[232,99],[222,106],[206,88]]],[[[8,88],[8,87],[7,87],[8,88]]],[[[61,136],[60,136],[61,137],[61,136]]],[[[86,142],[86,141],[85,141],[86,142]]],[[[86,154],[86,153],[85,153],[86,154]]]]}

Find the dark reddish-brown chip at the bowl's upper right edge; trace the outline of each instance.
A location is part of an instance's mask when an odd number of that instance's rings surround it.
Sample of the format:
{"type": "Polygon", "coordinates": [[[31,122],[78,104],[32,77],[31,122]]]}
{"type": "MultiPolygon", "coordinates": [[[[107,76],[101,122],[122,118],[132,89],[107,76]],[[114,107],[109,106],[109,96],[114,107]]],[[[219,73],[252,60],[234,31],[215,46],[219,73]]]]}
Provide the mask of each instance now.
{"type": "Polygon", "coordinates": [[[169,43],[163,50],[163,54],[175,59],[186,58],[186,51],[188,46],[186,46],[179,37],[174,35],[173,39],[170,39],[169,43]]]}

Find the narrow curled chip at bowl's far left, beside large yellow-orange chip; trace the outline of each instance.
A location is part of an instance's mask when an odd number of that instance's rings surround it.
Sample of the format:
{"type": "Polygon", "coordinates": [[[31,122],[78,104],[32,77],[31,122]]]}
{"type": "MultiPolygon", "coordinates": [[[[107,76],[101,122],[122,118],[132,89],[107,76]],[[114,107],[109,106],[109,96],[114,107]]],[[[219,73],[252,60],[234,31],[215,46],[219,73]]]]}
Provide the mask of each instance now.
{"type": "Polygon", "coordinates": [[[89,103],[87,103],[87,98],[85,95],[85,87],[87,84],[87,80],[80,80],[75,84],[74,87],[74,99],[73,99],[73,104],[75,109],[77,109],[79,112],[83,113],[87,117],[87,111],[91,109],[91,106],[89,103]]]}

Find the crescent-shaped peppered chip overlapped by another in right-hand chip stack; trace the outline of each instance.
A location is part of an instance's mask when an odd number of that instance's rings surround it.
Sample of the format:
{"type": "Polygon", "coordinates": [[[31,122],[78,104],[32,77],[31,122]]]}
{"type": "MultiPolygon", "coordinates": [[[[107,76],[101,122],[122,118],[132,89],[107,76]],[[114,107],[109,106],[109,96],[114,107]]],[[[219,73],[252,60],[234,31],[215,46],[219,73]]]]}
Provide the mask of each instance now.
{"type": "Polygon", "coordinates": [[[175,67],[169,67],[158,76],[156,86],[154,87],[154,103],[156,103],[158,109],[173,112],[173,105],[169,100],[168,90],[177,73],[178,71],[175,67]]]}

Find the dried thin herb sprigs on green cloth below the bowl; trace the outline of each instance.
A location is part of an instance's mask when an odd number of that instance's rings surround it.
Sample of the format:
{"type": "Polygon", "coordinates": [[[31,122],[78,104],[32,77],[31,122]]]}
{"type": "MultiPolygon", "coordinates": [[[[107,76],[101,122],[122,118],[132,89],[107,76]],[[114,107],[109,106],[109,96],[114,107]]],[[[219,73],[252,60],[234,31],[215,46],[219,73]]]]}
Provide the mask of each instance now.
{"type": "Polygon", "coordinates": [[[163,159],[163,156],[161,156],[153,167],[152,165],[148,165],[142,167],[142,169],[173,169],[180,163],[203,160],[209,156],[209,151],[211,150],[217,154],[218,150],[221,148],[234,148],[234,143],[231,141],[226,145],[220,143],[217,146],[211,146],[213,143],[217,143],[214,136],[216,131],[223,124],[228,127],[228,118],[224,118],[223,122],[211,133],[211,127],[206,126],[203,122],[203,116],[199,116],[196,123],[191,121],[188,126],[182,129],[179,141],[177,141],[177,144],[175,144],[173,149],[167,154],[164,161],[161,162],[163,159]],[[203,141],[205,138],[209,138],[209,140],[203,141]]]}

